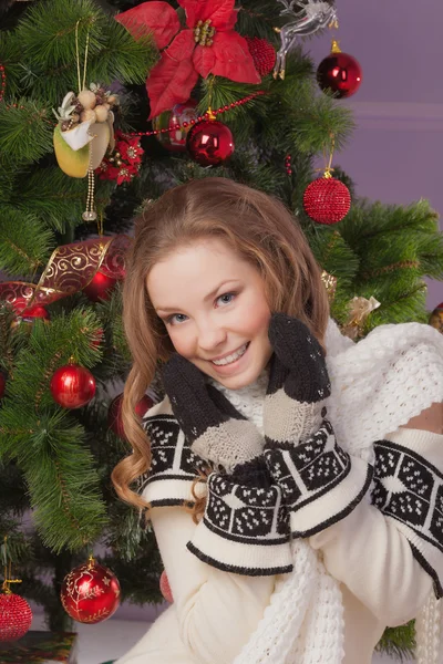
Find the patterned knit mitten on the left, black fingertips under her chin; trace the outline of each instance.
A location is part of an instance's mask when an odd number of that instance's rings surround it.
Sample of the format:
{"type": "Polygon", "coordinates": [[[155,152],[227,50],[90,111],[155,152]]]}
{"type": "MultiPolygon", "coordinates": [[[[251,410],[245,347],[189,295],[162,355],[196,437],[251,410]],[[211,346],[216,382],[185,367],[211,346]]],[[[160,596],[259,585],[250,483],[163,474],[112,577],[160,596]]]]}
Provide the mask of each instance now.
{"type": "Polygon", "coordinates": [[[204,518],[188,549],[237,573],[290,571],[289,517],[258,429],[178,354],[165,365],[163,383],[193,452],[218,466],[208,476],[204,518]]]}

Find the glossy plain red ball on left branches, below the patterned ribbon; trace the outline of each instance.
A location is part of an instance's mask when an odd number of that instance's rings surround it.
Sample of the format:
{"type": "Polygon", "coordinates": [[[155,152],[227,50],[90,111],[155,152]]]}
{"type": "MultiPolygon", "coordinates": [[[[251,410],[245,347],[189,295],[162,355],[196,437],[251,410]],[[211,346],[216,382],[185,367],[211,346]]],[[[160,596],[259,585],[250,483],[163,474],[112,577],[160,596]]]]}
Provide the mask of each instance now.
{"type": "Polygon", "coordinates": [[[95,394],[95,378],[79,364],[65,364],[56,370],[51,380],[51,393],[63,408],[80,408],[95,394]]]}

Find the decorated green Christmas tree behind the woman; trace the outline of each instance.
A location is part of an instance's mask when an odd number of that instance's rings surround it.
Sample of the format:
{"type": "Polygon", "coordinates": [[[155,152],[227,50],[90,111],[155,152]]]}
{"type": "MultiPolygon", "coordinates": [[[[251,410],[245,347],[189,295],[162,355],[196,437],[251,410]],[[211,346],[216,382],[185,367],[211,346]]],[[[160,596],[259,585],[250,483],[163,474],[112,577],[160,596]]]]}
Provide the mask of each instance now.
{"type": "MultiPolygon", "coordinates": [[[[99,544],[123,598],[161,600],[153,535],[110,481],[127,453],[112,398],[131,364],[124,234],[145,201],[216,175],[278,196],[324,270],[331,314],[354,339],[382,323],[426,322],[424,277],[443,278],[426,201],[359,199],[332,168],[353,128],[340,97],[361,72],[337,46],[317,71],[303,39],[336,25],[334,7],[193,8],[34,0],[2,17],[0,537],[20,594],[43,604],[51,629],[65,626],[63,578],[99,544]]],[[[388,630],[381,645],[410,652],[412,625],[388,630]]]]}

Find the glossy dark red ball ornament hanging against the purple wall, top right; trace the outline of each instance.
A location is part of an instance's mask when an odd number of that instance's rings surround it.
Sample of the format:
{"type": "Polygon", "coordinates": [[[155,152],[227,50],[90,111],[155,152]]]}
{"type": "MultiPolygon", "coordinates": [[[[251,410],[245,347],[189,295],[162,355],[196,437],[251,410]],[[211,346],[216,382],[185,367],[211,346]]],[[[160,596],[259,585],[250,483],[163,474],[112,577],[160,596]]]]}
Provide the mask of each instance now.
{"type": "Polygon", "coordinates": [[[317,82],[321,90],[333,92],[339,98],[349,97],[359,90],[363,73],[359,62],[349,53],[342,53],[336,41],[331,53],[317,69],[317,82]]]}

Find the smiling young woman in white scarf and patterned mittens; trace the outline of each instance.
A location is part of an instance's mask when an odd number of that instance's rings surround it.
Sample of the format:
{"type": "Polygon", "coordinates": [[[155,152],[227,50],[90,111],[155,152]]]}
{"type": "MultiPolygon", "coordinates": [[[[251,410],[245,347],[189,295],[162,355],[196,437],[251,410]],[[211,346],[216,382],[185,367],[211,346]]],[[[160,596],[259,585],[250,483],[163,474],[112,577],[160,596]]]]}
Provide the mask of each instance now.
{"type": "Polygon", "coordinates": [[[440,662],[440,334],[341,336],[296,220],[222,178],[146,208],[124,289],[113,481],[150,507],[174,604],[119,664],[369,664],[418,614],[419,661],[440,662]]]}

